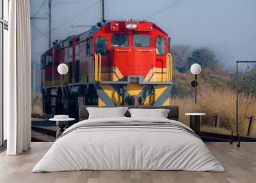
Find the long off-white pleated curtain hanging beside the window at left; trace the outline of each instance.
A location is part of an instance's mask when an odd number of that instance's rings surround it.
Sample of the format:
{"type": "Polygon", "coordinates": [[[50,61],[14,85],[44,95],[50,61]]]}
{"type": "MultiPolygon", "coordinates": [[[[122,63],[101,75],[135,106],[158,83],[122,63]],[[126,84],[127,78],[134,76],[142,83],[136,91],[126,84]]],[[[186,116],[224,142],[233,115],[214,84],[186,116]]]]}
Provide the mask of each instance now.
{"type": "Polygon", "coordinates": [[[4,63],[4,120],[7,152],[18,155],[31,145],[31,68],[29,0],[10,1],[9,60],[4,63]]]}

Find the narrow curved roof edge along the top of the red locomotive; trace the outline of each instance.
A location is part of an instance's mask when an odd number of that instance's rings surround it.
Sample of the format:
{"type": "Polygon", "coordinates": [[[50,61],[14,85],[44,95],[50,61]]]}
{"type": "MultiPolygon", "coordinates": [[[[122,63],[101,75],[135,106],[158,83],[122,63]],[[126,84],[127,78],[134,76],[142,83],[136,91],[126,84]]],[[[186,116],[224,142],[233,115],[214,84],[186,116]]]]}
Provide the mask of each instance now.
{"type": "MultiPolygon", "coordinates": [[[[80,33],[79,35],[72,35],[72,36],[68,36],[67,38],[65,38],[65,40],[60,40],[60,42],[58,42],[58,44],[56,45],[52,45],[52,47],[50,49],[48,49],[47,51],[44,52],[44,54],[46,52],[49,52],[52,50],[52,48],[56,47],[57,45],[63,44],[65,42],[70,42],[73,40],[74,36],[80,37],[86,33],[89,33],[90,36],[92,36],[94,33],[96,33],[97,31],[99,31],[100,29],[102,29],[104,26],[107,26],[110,22],[150,22],[147,20],[104,20],[104,22],[98,22],[95,26],[92,26],[92,28],[88,29],[88,31],[85,31],[83,33],[80,33]]],[[[163,29],[159,28],[156,24],[154,24],[152,22],[152,24],[154,26],[156,26],[160,31],[162,31],[163,33],[165,33],[166,35],[168,35],[165,31],[163,31],[163,29]]]]}

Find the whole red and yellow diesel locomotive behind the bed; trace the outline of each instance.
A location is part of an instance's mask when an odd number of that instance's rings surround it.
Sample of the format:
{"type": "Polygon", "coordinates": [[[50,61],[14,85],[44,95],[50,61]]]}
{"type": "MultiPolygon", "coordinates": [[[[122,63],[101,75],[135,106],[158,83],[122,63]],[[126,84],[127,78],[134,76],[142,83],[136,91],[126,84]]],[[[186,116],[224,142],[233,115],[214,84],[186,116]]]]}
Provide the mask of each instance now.
{"type": "Polygon", "coordinates": [[[41,57],[44,113],[77,115],[77,106],[170,105],[170,38],[146,21],[98,23],[41,57]],[[61,89],[57,67],[68,65],[61,89]]]}

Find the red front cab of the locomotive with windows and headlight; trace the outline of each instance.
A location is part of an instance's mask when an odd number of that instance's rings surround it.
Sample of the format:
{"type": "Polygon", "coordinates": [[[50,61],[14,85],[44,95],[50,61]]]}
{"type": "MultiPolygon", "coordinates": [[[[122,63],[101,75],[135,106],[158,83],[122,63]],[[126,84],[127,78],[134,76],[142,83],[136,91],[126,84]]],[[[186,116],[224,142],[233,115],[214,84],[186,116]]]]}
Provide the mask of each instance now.
{"type": "Polygon", "coordinates": [[[108,67],[117,70],[109,76],[102,71],[102,81],[127,81],[129,76],[143,77],[144,82],[170,81],[164,70],[168,36],[152,22],[109,22],[93,37],[94,51],[102,57],[102,68],[106,66],[104,70],[108,67]]]}

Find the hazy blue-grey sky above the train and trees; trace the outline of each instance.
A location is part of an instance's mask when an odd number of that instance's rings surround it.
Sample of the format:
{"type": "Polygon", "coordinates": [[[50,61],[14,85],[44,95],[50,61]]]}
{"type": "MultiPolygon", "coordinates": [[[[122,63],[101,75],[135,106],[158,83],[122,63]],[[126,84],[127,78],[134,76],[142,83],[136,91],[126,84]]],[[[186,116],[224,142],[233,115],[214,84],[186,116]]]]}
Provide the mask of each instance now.
{"type": "MultiPolygon", "coordinates": [[[[31,58],[48,48],[49,0],[31,0],[31,58]]],[[[99,0],[51,0],[51,40],[88,30],[100,20],[99,0]],[[78,27],[77,27],[78,26],[78,27]]],[[[256,0],[105,0],[106,20],[145,19],[172,38],[172,45],[209,47],[223,66],[256,60],[256,0]]]]}

